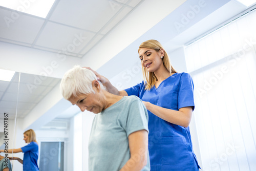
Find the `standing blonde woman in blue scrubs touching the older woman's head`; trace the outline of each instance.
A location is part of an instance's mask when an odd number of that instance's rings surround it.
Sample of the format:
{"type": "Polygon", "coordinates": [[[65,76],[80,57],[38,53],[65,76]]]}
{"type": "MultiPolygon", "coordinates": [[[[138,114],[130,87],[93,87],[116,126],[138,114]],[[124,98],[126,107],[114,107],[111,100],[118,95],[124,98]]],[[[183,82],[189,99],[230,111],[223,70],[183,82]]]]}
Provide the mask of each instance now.
{"type": "Polygon", "coordinates": [[[99,75],[106,89],[120,96],[138,96],[148,110],[148,150],[151,170],[199,170],[193,152],[189,123],[194,104],[194,84],[187,73],[177,73],[157,40],[139,47],[144,81],[118,91],[99,75]]]}

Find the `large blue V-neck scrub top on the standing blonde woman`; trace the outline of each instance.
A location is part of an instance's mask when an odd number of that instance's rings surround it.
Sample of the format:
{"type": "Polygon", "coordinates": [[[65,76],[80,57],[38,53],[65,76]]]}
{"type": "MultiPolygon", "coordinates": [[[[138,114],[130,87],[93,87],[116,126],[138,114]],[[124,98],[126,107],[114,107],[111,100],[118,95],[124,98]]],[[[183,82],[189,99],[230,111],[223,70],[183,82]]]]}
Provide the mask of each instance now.
{"type": "MultiPolygon", "coordinates": [[[[144,90],[144,81],[125,89],[127,94],[136,95],[143,101],[162,108],[178,111],[191,106],[194,110],[194,84],[187,73],[175,73],[163,80],[156,89],[144,90]]],[[[150,111],[148,112],[148,150],[151,170],[199,170],[193,152],[189,127],[169,123],[150,111]]]]}

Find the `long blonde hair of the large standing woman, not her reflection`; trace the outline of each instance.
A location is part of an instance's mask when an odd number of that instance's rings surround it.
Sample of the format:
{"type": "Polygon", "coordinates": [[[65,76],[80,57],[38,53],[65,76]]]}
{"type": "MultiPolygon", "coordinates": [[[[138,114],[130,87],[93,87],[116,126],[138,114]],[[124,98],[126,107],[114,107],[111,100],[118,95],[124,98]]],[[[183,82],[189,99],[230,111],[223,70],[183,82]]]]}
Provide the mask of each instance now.
{"type": "MultiPolygon", "coordinates": [[[[160,49],[164,50],[163,46],[157,40],[147,40],[142,42],[142,44],[139,46],[138,52],[140,51],[141,48],[154,49],[156,52],[159,52],[160,49]]],[[[177,73],[177,71],[170,64],[169,56],[165,50],[162,60],[164,67],[167,69],[169,73],[177,73]]],[[[148,72],[143,66],[141,67],[143,72],[145,90],[150,90],[157,81],[157,77],[154,74],[154,72],[148,72]]]]}

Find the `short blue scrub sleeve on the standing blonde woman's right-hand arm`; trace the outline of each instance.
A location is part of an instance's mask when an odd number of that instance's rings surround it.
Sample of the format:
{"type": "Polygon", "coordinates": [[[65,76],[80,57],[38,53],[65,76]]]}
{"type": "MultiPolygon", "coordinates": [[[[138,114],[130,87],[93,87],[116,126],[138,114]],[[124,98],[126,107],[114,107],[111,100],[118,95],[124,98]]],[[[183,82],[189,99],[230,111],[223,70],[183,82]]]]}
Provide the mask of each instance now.
{"type": "Polygon", "coordinates": [[[182,73],[178,91],[178,109],[188,106],[191,106],[194,111],[194,83],[188,73],[182,73]]]}

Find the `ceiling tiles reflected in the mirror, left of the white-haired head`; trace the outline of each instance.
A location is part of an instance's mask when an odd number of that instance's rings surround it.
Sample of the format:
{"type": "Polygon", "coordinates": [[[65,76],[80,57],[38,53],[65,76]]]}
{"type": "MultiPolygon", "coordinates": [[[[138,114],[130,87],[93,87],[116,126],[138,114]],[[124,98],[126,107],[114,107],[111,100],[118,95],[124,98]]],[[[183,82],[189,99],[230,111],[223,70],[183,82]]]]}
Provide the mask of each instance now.
{"type": "Polygon", "coordinates": [[[0,113],[7,113],[8,119],[14,119],[16,113],[17,118],[25,117],[59,82],[58,78],[25,73],[19,77],[16,72],[10,82],[0,81],[0,113]]]}

